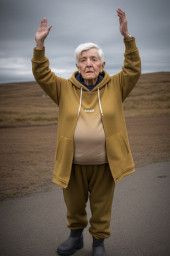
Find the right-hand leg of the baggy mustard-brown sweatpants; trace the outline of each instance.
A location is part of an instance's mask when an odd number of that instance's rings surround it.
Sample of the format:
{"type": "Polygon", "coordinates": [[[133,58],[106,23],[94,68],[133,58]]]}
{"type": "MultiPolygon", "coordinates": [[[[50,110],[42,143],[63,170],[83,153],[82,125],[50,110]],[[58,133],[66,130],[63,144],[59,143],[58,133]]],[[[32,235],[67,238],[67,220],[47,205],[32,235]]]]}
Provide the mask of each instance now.
{"type": "Polygon", "coordinates": [[[96,239],[110,237],[110,220],[114,196],[114,179],[108,164],[92,165],[89,173],[90,234],[96,239]]]}

